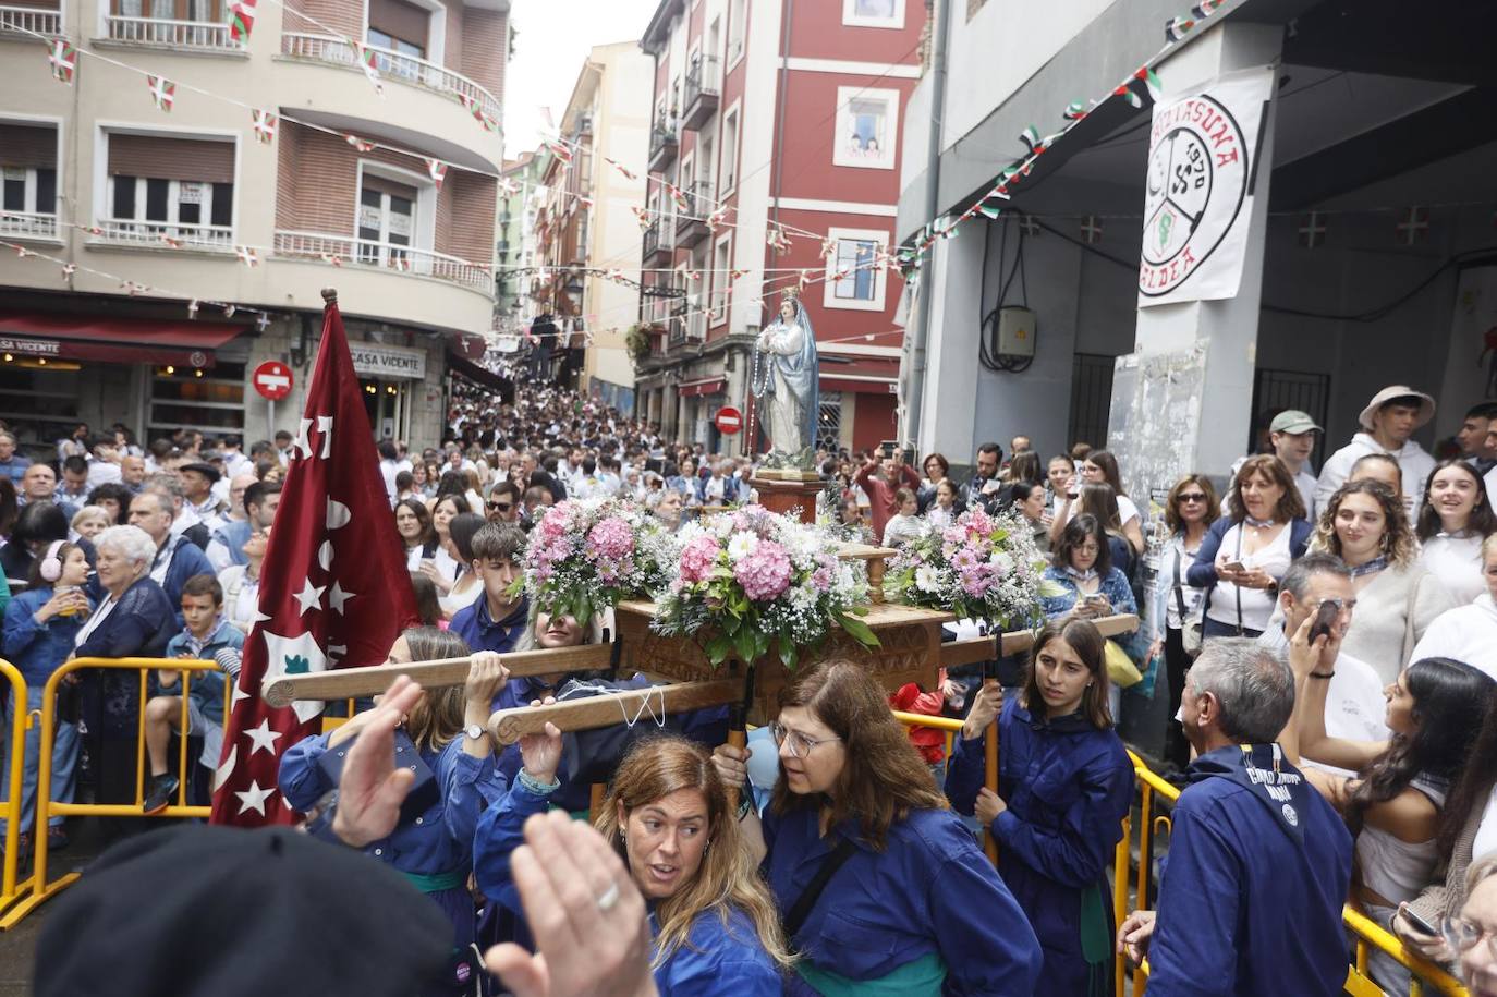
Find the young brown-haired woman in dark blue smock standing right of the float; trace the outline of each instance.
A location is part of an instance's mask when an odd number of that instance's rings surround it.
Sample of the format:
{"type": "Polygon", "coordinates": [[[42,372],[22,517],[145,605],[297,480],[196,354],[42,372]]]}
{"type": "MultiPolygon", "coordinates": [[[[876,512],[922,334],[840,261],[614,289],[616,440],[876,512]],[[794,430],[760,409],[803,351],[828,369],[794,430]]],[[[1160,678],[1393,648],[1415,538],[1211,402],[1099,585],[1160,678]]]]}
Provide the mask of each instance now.
{"type": "Polygon", "coordinates": [[[1045,993],[1112,988],[1108,876],[1133,799],[1133,766],[1112,731],[1103,639],[1087,620],[1051,620],[1016,702],[987,683],[946,774],[946,796],[998,843],[998,873],[1045,951],[1045,993]],[[998,792],[982,786],[998,716],[998,792]]]}

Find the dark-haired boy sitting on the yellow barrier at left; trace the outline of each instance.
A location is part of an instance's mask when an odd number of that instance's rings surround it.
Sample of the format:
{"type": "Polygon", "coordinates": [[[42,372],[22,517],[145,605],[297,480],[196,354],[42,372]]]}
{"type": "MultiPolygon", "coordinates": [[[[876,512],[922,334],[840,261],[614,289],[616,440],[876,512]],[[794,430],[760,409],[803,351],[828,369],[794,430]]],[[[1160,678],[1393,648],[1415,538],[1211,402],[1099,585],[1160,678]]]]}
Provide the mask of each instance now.
{"type": "Polygon", "coordinates": [[[166,642],[166,657],[217,662],[219,672],[192,672],[187,692],[187,726],[183,728],[183,698],[165,690],[178,689],[186,672],[157,669],[145,704],[145,750],[151,778],[145,787],[145,813],[160,813],[177,793],[178,777],[168,771],[172,732],[201,737],[199,763],[210,771],[219,765],[223,747],[223,675],[240,674],[244,633],[223,618],[223,588],[213,575],[193,575],[183,582],[183,632],[166,642]]]}

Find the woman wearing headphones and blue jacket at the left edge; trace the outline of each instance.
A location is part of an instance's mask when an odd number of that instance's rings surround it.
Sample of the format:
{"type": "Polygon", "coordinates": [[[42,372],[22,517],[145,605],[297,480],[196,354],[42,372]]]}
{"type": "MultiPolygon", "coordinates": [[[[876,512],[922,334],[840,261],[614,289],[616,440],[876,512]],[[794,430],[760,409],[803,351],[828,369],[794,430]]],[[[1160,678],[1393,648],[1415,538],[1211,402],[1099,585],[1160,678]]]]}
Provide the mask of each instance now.
{"type": "MultiPolygon", "coordinates": [[[[25,707],[18,710],[15,699],[6,701],[4,729],[12,731],[18,713],[40,710],[45,702],[46,680],[57,668],[73,656],[73,639],[82,629],[93,606],[84,594],[88,584],[88,560],[82,548],[54,540],[31,563],[30,588],[10,600],[4,611],[4,656],[25,678],[25,707]]],[[[76,678],[76,677],[72,677],[76,678]]],[[[69,681],[64,677],[63,681],[69,681]]],[[[25,735],[25,769],[21,777],[21,852],[30,850],[33,814],[36,810],[36,777],[40,765],[40,725],[25,735]]],[[[4,759],[9,735],[0,744],[0,759],[4,759]]],[[[57,717],[52,737],[51,799],[73,801],[75,769],[78,765],[78,725],[57,717]]],[[[9,783],[9,765],[0,765],[0,799],[4,799],[9,783]]],[[[48,847],[67,843],[63,831],[64,817],[48,820],[48,847]]],[[[0,822],[3,840],[4,822],[0,822]]]]}

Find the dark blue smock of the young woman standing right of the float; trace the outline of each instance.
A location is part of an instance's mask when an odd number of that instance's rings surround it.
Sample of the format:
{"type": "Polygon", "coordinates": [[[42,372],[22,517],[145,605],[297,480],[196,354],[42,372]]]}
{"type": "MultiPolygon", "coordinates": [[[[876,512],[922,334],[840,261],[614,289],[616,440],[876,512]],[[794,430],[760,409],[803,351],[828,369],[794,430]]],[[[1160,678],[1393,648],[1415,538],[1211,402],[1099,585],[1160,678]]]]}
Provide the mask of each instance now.
{"type": "MultiPolygon", "coordinates": [[[[970,814],[982,787],[988,735],[957,738],[946,771],[946,798],[970,814]]],[[[1133,801],[1133,765],[1112,729],[1079,714],[1046,722],[1003,704],[998,717],[998,796],[1007,810],[993,822],[998,874],[1028,916],[1045,949],[1045,981],[1057,994],[1088,993],[1082,954],[1082,894],[1099,888],[1109,912],[1108,876],[1133,801]]],[[[1111,940],[1108,925],[1088,925],[1111,940]]],[[[1105,949],[1111,954],[1111,945],[1105,949]]],[[[1096,946],[1091,963],[1111,958],[1096,946]]]]}

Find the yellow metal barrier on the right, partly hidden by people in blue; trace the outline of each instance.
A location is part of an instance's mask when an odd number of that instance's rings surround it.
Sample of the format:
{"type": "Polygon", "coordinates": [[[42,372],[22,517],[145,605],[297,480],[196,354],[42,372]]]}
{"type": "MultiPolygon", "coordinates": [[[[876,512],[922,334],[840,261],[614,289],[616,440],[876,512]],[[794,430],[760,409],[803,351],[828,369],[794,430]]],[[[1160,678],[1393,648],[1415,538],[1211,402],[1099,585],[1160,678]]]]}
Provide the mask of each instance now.
{"type": "MultiPolygon", "coordinates": [[[[961,720],[949,717],[928,717],[919,713],[894,711],[894,717],[907,728],[936,728],[946,732],[946,757],[951,759],[952,743],[961,731],[961,720]]],[[[1133,777],[1138,783],[1139,826],[1133,831],[1133,816],[1123,819],[1123,840],[1118,841],[1112,865],[1112,913],[1115,924],[1135,909],[1153,909],[1154,898],[1150,895],[1150,879],[1154,867],[1154,844],[1162,831],[1169,831],[1171,819],[1166,814],[1154,814],[1157,802],[1174,805],[1180,798],[1180,789],[1154,774],[1144,760],[1129,751],[1133,762],[1133,777]],[[1138,847],[1138,870],[1133,870],[1132,852],[1138,847]],[[1132,886],[1132,892],[1130,892],[1132,886]]],[[[984,829],[984,835],[988,831],[984,829]]],[[[1373,982],[1367,969],[1370,952],[1385,952],[1401,963],[1410,973],[1409,997],[1422,997],[1428,993],[1448,994],[1449,997],[1469,997],[1469,991],[1458,979],[1442,970],[1439,966],[1424,960],[1418,954],[1404,948],[1397,936],[1370,921],[1361,912],[1347,904],[1341,912],[1346,931],[1355,945],[1355,961],[1347,966],[1346,984],[1343,990],[1350,997],[1382,997],[1383,988],[1373,982]]],[[[1118,957],[1115,964],[1114,991],[1117,997],[1126,993],[1127,964],[1126,957],[1118,957]]],[[[1142,996],[1148,987],[1148,963],[1133,967],[1133,994],[1142,996]]]]}

